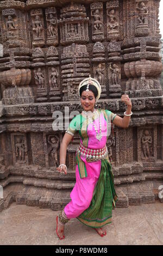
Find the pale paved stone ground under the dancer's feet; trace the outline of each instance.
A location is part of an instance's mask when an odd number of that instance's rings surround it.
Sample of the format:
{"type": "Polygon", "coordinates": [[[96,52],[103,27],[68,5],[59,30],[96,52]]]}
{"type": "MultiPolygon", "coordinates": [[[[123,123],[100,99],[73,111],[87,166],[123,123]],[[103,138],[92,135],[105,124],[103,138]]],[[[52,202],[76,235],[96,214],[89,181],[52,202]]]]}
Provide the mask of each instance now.
{"type": "Polygon", "coordinates": [[[16,205],[0,214],[0,245],[163,245],[163,204],[116,208],[107,235],[77,219],[67,223],[64,240],[55,233],[57,211],[16,205]]]}

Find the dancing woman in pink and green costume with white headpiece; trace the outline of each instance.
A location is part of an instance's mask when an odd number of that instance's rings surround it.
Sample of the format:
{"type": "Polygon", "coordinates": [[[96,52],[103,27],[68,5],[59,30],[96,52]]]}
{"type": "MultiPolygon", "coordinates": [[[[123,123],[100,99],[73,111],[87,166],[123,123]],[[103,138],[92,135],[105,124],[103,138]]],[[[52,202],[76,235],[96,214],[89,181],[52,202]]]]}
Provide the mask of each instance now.
{"type": "Polygon", "coordinates": [[[95,109],[101,95],[101,85],[94,78],[86,78],[79,84],[79,95],[84,111],[74,117],[62,139],[60,146],[59,172],[67,173],[66,150],[74,134],[79,131],[80,145],[77,150],[76,184],[70,194],[71,202],[57,216],[57,235],[64,239],[64,225],[71,218],[94,228],[101,236],[102,228],[111,223],[112,209],[115,209],[117,194],[114,188],[114,174],[109,162],[106,141],[108,127],[114,123],[127,128],[130,122],[131,101],[122,95],[127,110],[121,118],[108,110],[95,109]]]}

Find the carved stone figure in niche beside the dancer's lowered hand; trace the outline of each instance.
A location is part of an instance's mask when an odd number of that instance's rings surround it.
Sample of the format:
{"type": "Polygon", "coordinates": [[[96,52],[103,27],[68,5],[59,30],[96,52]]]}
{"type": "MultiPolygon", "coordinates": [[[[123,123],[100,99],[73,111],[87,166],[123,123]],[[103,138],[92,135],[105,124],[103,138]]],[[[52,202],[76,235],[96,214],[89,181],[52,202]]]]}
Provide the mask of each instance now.
{"type": "Polygon", "coordinates": [[[54,135],[49,135],[48,136],[48,143],[52,147],[49,154],[51,154],[54,167],[57,167],[59,165],[59,159],[58,159],[59,137],[54,136],[54,135]]]}

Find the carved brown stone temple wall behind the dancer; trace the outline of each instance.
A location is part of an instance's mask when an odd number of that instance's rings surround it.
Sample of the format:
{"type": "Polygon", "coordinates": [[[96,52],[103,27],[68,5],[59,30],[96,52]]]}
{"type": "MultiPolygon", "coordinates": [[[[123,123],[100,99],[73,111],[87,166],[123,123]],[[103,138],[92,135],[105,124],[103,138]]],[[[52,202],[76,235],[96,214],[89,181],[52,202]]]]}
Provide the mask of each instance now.
{"type": "Polygon", "coordinates": [[[70,201],[79,136],[68,145],[68,174],[60,174],[65,130],[54,131],[54,111],[82,111],[78,85],[92,77],[102,85],[98,108],[123,117],[114,127],[109,158],[117,207],[161,200],[163,98],[160,0],[0,1],[0,210],[11,202],[58,210],[70,201]]]}

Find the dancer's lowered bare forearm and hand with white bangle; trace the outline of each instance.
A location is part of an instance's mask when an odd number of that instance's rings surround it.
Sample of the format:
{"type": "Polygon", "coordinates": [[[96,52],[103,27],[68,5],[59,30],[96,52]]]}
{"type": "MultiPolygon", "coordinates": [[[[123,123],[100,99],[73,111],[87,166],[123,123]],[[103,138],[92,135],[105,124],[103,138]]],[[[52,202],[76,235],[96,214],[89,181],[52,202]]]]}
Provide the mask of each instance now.
{"type": "MultiPolygon", "coordinates": [[[[66,151],[67,151],[67,146],[71,142],[71,139],[73,138],[72,135],[69,133],[65,133],[64,138],[62,139],[62,142],[60,144],[60,164],[66,163],[66,151]]],[[[61,166],[60,168],[57,168],[59,172],[64,172],[67,174],[67,169],[65,166],[61,166]]]]}

